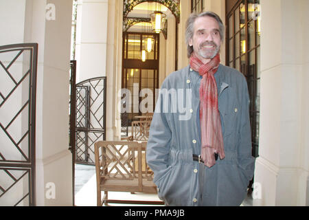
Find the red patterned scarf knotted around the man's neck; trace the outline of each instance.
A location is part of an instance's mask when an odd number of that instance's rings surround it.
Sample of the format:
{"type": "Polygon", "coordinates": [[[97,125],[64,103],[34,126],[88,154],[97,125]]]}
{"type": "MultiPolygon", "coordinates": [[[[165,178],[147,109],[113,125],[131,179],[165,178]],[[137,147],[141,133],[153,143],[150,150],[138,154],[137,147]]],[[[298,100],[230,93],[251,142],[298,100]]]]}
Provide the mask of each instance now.
{"type": "Polygon", "coordinates": [[[190,57],[190,67],[203,76],[200,85],[200,120],[201,120],[201,157],[205,166],[214,166],[214,153],[220,159],[225,157],[220,113],[218,110],[218,89],[214,74],[220,64],[217,54],[209,63],[203,63],[193,52],[190,57]]]}

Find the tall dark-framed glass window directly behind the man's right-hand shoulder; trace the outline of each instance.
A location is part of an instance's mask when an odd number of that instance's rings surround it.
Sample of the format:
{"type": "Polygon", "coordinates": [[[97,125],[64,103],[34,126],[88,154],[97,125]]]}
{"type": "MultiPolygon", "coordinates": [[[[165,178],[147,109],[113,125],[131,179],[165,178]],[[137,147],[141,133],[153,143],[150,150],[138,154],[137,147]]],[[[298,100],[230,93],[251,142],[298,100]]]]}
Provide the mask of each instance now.
{"type": "Polygon", "coordinates": [[[258,156],[260,115],[260,1],[238,0],[227,12],[227,65],[247,78],[250,96],[253,156],[258,156]],[[235,30],[233,30],[235,28],[235,30]]]}

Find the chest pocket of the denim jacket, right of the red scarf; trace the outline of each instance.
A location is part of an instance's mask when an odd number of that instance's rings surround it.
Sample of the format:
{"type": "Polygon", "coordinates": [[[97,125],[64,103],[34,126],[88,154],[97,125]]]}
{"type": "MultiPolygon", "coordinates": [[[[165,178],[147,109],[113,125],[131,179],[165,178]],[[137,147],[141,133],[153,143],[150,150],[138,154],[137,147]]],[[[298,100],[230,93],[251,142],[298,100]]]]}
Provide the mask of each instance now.
{"type": "Polygon", "coordinates": [[[238,118],[240,117],[240,102],[232,87],[227,87],[219,96],[219,111],[221,115],[223,137],[238,131],[238,118]]]}

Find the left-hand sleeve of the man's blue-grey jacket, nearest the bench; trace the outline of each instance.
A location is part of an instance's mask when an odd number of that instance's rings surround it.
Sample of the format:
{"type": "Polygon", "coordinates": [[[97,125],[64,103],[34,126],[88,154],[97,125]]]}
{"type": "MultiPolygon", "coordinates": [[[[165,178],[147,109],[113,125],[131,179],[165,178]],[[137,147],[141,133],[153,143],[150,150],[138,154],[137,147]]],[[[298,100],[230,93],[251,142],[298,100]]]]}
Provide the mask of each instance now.
{"type": "Polygon", "coordinates": [[[170,141],[172,132],[168,125],[166,116],[163,113],[163,97],[159,94],[155,113],[150,125],[149,138],[146,150],[146,159],[148,166],[154,172],[153,181],[159,187],[159,179],[168,173],[168,157],[170,155],[170,141]]]}

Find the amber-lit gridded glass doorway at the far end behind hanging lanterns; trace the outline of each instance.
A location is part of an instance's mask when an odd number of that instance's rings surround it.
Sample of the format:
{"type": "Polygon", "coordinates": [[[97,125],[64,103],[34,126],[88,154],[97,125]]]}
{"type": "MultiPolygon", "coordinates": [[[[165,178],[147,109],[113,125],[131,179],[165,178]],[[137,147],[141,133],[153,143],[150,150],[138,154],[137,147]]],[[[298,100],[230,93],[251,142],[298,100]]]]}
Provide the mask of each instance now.
{"type": "MultiPolygon", "coordinates": [[[[124,119],[123,124],[131,124],[132,120],[136,120],[136,115],[141,115],[139,105],[144,100],[144,97],[139,97],[141,89],[150,89],[152,97],[149,96],[149,98],[153,98],[152,103],[155,103],[154,91],[159,87],[159,34],[124,32],[123,41],[124,70],[122,72],[122,88],[130,90],[132,105],[130,106],[130,112],[122,120],[124,119]],[[141,50],[146,50],[145,62],[141,61],[141,50]],[[133,98],[135,102],[133,102],[133,98]]],[[[146,94],[146,97],[148,98],[148,94],[146,94]]],[[[149,104],[147,102],[146,107],[153,111],[155,104],[151,104],[151,102],[149,104]]]]}

